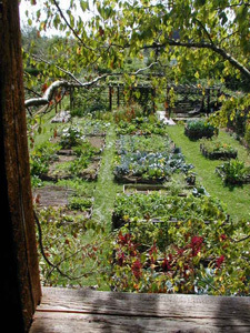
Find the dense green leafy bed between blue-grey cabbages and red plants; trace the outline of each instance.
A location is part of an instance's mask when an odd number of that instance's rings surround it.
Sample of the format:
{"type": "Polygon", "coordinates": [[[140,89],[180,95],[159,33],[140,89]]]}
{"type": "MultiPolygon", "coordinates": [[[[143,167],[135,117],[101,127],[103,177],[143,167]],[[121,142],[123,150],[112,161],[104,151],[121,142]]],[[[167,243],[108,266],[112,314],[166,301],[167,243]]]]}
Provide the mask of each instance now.
{"type": "Polygon", "coordinates": [[[189,219],[202,219],[212,223],[218,218],[228,220],[221,205],[209,196],[187,196],[168,192],[152,191],[149,193],[120,194],[114,202],[112,215],[113,229],[129,223],[144,222],[184,222],[189,219]],[[217,214],[214,214],[217,212],[217,214]]]}

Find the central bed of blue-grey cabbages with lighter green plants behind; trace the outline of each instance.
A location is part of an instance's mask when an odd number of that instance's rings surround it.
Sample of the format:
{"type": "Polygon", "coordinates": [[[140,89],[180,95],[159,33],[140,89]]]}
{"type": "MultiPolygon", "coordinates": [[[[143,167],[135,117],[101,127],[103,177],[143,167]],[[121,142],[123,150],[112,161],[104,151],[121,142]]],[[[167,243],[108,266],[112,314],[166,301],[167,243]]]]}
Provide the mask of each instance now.
{"type": "Polygon", "coordinates": [[[168,137],[124,135],[117,142],[113,173],[118,182],[158,184],[192,168],[168,137]]]}

